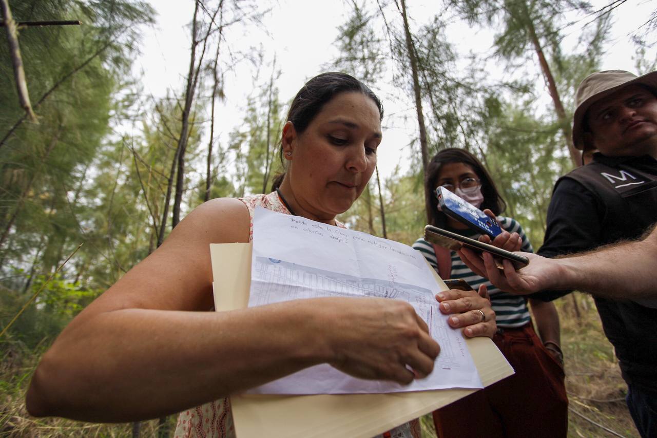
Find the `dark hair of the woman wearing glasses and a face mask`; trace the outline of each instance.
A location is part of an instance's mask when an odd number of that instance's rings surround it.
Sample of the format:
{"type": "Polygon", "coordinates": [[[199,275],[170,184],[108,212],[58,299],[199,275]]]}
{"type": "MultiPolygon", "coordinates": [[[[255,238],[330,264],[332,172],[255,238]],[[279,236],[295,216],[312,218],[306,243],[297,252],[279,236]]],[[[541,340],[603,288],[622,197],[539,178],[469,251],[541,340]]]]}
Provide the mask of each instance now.
{"type": "Polygon", "coordinates": [[[448,149],[442,149],[442,151],[437,153],[434,158],[431,159],[428,166],[426,166],[424,185],[425,187],[428,187],[428,191],[425,191],[424,202],[426,210],[429,212],[431,218],[431,224],[443,228],[447,223],[447,216],[445,216],[445,213],[438,211],[438,198],[434,195],[434,189],[436,188],[436,185],[438,185],[438,176],[440,175],[442,166],[455,162],[462,162],[463,164],[470,166],[477,175],[477,178],[482,182],[482,195],[484,195],[484,202],[479,208],[482,210],[484,210],[484,208],[489,208],[495,216],[499,216],[499,214],[507,208],[507,203],[505,203],[504,199],[502,199],[499,194],[499,191],[497,191],[497,187],[495,187],[495,183],[484,165],[477,159],[477,157],[465,149],[450,147],[448,149]]]}

